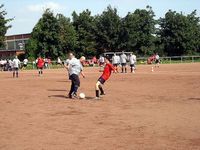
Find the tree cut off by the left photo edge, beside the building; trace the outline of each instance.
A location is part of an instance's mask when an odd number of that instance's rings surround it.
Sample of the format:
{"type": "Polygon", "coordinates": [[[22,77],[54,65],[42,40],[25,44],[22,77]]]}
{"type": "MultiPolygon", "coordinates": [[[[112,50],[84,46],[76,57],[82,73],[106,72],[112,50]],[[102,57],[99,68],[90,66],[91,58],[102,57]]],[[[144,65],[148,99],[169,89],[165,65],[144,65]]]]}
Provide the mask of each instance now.
{"type": "Polygon", "coordinates": [[[4,5],[0,5],[0,47],[4,46],[5,42],[5,34],[9,28],[11,28],[10,25],[7,25],[8,22],[10,22],[12,19],[6,19],[5,16],[7,12],[3,10],[4,5]]]}

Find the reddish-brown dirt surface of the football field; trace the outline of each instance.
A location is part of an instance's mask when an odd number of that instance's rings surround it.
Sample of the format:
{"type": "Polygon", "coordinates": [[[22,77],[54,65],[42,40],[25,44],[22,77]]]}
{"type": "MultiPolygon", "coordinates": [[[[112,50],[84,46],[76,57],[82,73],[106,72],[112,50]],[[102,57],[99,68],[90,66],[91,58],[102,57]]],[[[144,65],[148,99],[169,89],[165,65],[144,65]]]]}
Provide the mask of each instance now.
{"type": "Polygon", "coordinates": [[[0,72],[1,150],[199,150],[200,64],[137,66],[112,74],[94,100],[98,68],[84,68],[79,92],[66,98],[64,69],[0,72]]]}

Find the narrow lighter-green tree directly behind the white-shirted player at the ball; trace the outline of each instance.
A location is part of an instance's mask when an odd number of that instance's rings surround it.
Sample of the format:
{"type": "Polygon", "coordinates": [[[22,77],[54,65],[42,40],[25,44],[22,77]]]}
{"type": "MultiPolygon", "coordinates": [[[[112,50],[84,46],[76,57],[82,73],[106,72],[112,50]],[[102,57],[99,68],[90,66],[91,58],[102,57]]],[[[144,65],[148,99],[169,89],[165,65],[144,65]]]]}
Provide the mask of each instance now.
{"type": "Polygon", "coordinates": [[[59,25],[59,49],[64,55],[74,51],[77,47],[77,33],[69,18],[58,14],[57,20],[59,25]]]}

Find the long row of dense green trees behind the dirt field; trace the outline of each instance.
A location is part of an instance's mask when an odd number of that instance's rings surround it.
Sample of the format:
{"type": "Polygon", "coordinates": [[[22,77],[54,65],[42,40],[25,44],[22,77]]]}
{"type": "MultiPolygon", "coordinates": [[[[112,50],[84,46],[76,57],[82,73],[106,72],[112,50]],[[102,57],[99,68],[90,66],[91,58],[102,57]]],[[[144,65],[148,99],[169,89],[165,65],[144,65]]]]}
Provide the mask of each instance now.
{"type": "MultiPolygon", "coordinates": [[[[1,33],[0,33],[1,34],[1,33]]],[[[86,9],[72,19],[46,9],[26,44],[27,57],[52,59],[68,52],[98,56],[103,52],[129,51],[139,56],[199,55],[200,19],[196,10],[188,15],[169,10],[155,19],[150,6],[128,12],[125,17],[108,6],[92,16],[86,9]]]]}

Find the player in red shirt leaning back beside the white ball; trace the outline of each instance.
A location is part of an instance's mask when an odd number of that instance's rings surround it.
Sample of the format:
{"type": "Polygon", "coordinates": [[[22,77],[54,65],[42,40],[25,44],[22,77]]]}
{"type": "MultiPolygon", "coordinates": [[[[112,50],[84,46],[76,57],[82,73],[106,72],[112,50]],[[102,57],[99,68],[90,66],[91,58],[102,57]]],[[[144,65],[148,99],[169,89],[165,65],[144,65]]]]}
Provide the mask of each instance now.
{"type": "Polygon", "coordinates": [[[100,95],[105,95],[105,92],[102,88],[102,85],[105,83],[106,80],[109,79],[111,73],[114,71],[116,72],[114,66],[110,63],[110,61],[108,60],[108,58],[105,58],[105,67],[103,70],[103,74],[100,76],[100,78],[98,79],[97,83],[96,83],[96,99],[100,99],[100,95]],[[99,93],[99,90],[101,93],[99,93]]]}

